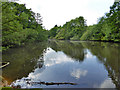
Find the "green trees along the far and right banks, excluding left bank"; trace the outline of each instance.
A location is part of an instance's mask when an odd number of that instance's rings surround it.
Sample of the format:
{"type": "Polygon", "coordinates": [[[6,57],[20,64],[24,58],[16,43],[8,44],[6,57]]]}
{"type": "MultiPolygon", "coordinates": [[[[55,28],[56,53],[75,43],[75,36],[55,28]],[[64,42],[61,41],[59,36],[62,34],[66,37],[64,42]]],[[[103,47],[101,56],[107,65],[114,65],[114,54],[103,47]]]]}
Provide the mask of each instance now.
{"type": "Polygon", "coordinates": [[[55,25],[50,31],[50,39],[60,40],[99,40],[120,42],[120,2],[114,2],[110,11],[101,17],[97,24],[87,26],[80,16],[63,26],[55,25]]]}

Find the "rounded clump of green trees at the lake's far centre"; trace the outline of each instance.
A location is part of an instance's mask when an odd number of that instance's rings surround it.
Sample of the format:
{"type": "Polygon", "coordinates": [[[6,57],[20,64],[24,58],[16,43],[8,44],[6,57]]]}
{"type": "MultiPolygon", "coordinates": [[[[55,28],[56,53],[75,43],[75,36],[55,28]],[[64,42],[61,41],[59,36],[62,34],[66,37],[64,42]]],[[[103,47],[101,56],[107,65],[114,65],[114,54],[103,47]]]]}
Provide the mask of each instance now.
{"type": "Polygon", "coordinates": [[[86,31],[86,20],[80,16],[69,22],[66,22],[62,27],[55,26],[50,32],[50,38],[60,40],[79,40],[82,34],[86,31]]]}

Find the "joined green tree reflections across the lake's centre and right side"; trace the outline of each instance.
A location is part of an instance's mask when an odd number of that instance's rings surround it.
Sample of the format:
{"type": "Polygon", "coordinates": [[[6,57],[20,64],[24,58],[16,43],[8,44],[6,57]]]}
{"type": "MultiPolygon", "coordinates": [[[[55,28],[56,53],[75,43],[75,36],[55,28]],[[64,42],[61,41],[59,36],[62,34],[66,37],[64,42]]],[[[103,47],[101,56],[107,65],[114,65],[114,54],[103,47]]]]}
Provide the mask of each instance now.
{"type": "Polygon", "coordinates": [[[83,61],[85,49],[99,58],[108,71],[108,76],[112,79],[116,88],[120,88],[120,44],[109,42],[50,42],[50,47],[55,51],[63,51],[66,55],[83,61]]]}

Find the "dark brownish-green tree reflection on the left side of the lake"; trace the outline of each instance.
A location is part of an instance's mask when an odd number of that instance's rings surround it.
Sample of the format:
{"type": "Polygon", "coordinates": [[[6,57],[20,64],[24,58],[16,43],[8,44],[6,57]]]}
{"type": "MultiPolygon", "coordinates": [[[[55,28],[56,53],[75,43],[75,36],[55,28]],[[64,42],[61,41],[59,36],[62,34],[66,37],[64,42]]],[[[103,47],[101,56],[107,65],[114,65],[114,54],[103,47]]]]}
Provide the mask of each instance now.
{"type": "MultiPolygon", "coordinates": [[[[2,60],[10,64],[2,69],[2,77],[12,83],[16,79],[27,77],[34,70],[38,59],[46,49],[46,43],[29,43],[26,46],[3,52],[2,60]]],[[[43,59],[41,59],[43,61],[43,59]]],[[[43,63],[40,63],[42,67],[43,63]]]]}

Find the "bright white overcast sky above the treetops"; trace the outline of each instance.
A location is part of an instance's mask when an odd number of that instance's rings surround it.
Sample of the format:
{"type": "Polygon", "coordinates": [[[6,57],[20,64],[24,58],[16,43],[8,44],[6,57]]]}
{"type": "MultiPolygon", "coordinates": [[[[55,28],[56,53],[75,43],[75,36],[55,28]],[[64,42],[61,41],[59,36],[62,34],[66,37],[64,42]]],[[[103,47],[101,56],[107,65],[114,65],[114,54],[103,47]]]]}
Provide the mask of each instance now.
{"type": "Polygon", "coordinates": [[[110,10],[114,0],[20,0],[20,3],[40,13],[43,26],[50,29],[79,16],[87,20],[87,25],[96,24],[98,18],[110,10]]]}

